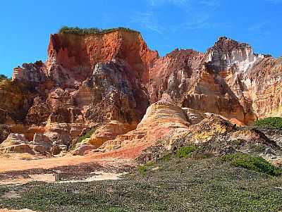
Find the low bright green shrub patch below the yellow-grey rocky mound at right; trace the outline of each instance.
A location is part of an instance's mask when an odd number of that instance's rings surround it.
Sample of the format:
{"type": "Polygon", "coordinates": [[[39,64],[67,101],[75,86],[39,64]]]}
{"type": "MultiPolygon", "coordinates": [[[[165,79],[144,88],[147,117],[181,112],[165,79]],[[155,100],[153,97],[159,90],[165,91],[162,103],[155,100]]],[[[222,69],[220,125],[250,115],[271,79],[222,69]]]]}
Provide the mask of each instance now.
{"type": "Polygon", "coordinates": [[[266,173],[273,176],[282,174],[282,170],[274,167],[259,156],[252,156],[250,154],[235,153],[228,154],[221,157],[222,161],[230,161],[233,166],[247,168],[249,170],[255,170],[257,172],[266,173]]]}

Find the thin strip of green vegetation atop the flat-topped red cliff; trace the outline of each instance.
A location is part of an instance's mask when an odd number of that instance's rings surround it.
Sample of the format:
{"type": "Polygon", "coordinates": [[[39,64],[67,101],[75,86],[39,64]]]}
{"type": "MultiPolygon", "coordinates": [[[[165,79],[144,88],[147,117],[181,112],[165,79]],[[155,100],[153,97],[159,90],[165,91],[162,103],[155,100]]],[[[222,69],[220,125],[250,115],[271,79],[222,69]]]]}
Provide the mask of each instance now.
{"type": "Polygon", "coordinates": [[[97,34],[106,34],[109,32],[114,32],[117,30],[123,30],[127,32],[137,32],[125,27],[111,28],[111,29],[99,29],[96,27],[92,28],[80,28],[80,27],[61,27],[59,30],[60,34],[73,34],[73,35],[97,35],[97,34]]]}

